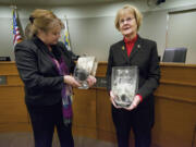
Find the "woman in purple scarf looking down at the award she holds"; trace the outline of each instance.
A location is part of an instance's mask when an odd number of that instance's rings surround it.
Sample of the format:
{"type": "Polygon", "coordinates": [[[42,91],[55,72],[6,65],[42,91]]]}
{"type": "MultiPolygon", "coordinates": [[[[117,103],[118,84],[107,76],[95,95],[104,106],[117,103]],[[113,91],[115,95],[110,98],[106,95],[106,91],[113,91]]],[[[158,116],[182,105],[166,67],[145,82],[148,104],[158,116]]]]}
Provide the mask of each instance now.
{"type": "MultiPolygon", "coordinates": [[[[25,103],[34,131],[35,147],[51,147],[57,127],[61,147],[73,147],[72,76],[74,61],[59,42],[63,23],[49,10],[29,16],[28,39],[16,45],[15,62],[25,88],[25,103]]],[[[95,77],[88,77],[91,86],[95,77]]]]}

